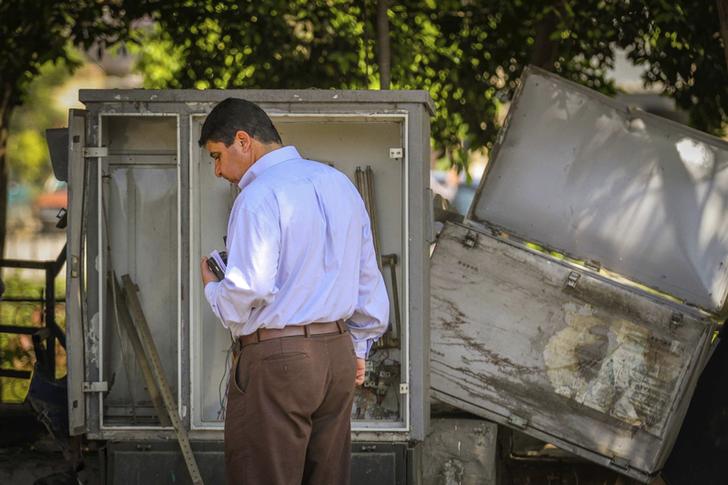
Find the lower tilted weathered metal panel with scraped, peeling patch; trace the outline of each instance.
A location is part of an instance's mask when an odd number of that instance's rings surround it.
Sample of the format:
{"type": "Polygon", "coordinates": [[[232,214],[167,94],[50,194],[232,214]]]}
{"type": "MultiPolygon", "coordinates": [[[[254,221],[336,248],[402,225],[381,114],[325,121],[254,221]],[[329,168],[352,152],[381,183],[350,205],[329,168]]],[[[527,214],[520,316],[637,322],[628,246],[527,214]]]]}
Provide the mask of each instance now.
{"type": "Polygon", "coordinates": [[[688,307],[448,223],[431,265],[433,395],[638,479],[710,346],[688,307]]]}

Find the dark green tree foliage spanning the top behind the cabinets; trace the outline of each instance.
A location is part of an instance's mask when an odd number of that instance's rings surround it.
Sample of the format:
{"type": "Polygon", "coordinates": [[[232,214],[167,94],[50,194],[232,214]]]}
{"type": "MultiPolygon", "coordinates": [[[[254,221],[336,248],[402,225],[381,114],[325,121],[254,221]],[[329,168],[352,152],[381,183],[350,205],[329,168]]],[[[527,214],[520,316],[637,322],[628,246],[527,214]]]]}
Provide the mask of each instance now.
{"type": "MultiPolygon", "coordinates": [[[[462,168],[495,140],[526,65],[612,95],[618,52],[642,66],[645,86],[674,99],[694,127],[722,134],[726,4],[0,0],[0,194],[7,194],[8,164],[14,178],[36,186],[50,173],[42,129],[65,114],[32,108],[46,105],[48,87],[82,62],[69,45],[88,52],[125,42],[147,88],[425,89],[436,104],[434,148],[462,168]]],[[[6,200],[0,197],[0,254],[6,200]]]]}

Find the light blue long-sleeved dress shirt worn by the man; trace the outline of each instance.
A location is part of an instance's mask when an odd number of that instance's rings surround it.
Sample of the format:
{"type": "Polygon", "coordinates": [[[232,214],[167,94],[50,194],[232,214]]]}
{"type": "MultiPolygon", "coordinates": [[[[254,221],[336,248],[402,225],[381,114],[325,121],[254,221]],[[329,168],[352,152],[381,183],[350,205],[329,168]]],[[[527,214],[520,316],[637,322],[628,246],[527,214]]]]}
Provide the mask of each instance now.
{"type": "Polygon", "coordinates": [[[345,319],[365,358],[387,329],[389,300],[369,216],[349,178],[288,146],[258,159],[240,188],[225,279],[205,286],[215,315],[235,337],[345,319]]]}

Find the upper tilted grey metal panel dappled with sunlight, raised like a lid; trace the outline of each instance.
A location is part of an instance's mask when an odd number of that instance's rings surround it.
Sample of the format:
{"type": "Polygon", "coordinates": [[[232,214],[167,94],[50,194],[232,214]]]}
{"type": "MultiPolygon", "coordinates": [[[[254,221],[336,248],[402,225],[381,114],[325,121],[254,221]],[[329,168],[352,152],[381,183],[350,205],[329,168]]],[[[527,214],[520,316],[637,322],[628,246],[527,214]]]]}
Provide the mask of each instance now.
{"type": "Polygon", "coordinates": [[[711,312],[728,295],[728,143],[531,69],[469,217],[711,312]]]}

